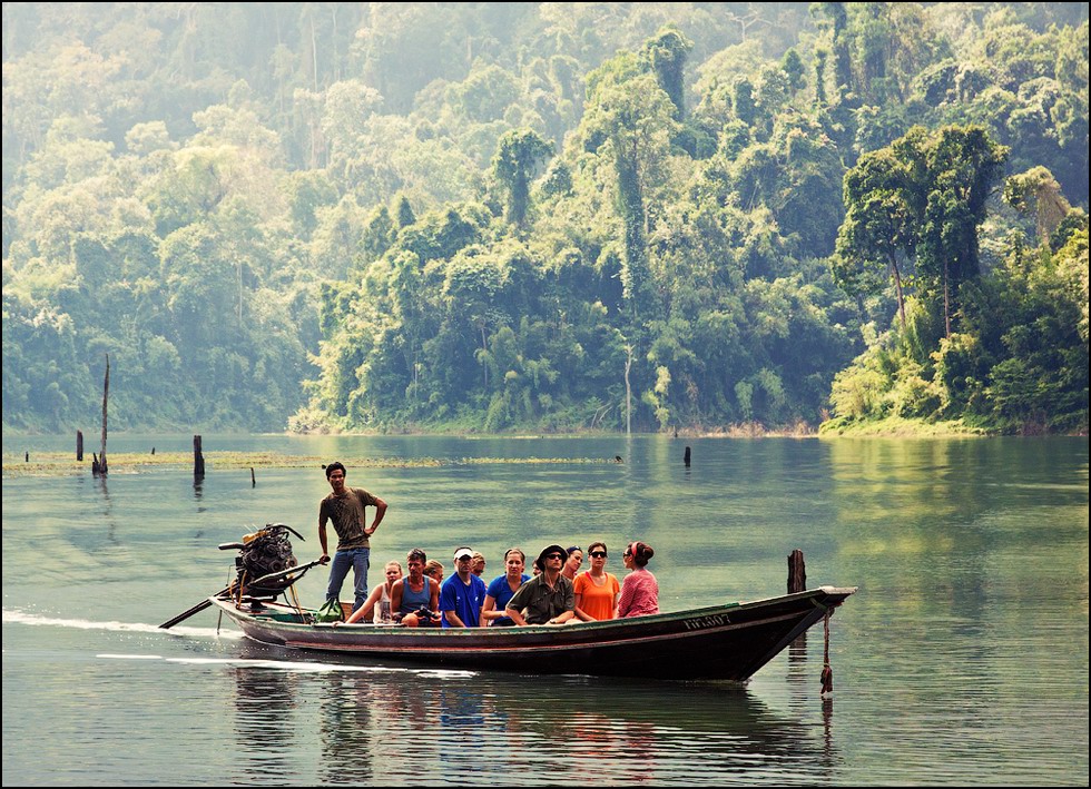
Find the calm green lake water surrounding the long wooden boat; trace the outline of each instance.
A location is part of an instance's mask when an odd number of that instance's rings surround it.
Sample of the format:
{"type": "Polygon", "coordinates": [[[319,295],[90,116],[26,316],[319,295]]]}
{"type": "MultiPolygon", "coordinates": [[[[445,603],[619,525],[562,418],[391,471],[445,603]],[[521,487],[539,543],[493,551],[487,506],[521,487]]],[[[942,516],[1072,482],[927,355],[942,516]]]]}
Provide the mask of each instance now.
{"type": "MultiPolygon", "coordinates": [[[[4,436],[6,457],[71,437],[4,436]]],[[[111,436],[112,453],[191,436],[111,436]]],[[[205,436],[347,460],[382,564],[656,549],[664,610],[859,586],[746,687],[421,670],[263,648],[205,611],[222,542],[317,558],[321,469],[3,480],[3,785],[1088,785],[1088,440],[205,436]],[[686,467],[682,454],[692,448],[686,467]],[[621,455],[623,463],[615,463],[621,455]],[[432,465],[415,463],[433,458],[432,465]],[[407,461],[399,464],[396,461],[407,461]],[[486,461],[486,462],[485,462],[486,461]],[[537,462],[541,461],[541,462],[537,462]]],[[[325,569],[298,584],[321,602],[325,569]]],[[[346,584],[346,592],[351,585],[346,584]]],[[[346,596],[343,594],[343,596],[346,596]]]]}

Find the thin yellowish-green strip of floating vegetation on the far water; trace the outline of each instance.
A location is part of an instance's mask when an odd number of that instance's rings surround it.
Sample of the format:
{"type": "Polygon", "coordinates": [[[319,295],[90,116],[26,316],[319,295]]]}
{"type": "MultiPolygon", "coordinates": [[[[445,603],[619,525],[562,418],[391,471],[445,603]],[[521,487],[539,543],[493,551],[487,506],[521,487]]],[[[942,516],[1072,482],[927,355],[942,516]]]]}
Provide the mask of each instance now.
{"type": "MultiPolygon", "coordinates": [[[[240,469],[322,469],[327,457],[288,455],[275,452],[206,452],[209,471],[240,469]]],[[[472,465],[583,465],[609,463],[612,457],[352,457],[340,458],[350,469],[426,469],[432,466],[472,465]]],[[[191,452],[118,452],[109,455],[110,474],[139,474],[154,470],[191,470],[191,452]]],[[[36,452],[33,460],[22,454],[3,456],[3,476],[69,476],[89,474],[91,461],[76,461],[70,452],[36,452]]]]}

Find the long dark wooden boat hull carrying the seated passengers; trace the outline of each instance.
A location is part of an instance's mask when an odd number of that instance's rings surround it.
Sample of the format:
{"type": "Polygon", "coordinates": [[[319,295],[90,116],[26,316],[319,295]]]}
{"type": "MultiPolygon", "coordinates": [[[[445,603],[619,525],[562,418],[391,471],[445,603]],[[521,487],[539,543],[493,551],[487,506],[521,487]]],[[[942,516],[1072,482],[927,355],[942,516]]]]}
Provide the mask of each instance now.
{"type": "Polygon", "coordinates": [[[651,617],[527,628],[433,629],[311,623],[311,612],[210,602],[243,632],[292,649],[445,668],[745,682],[856,588],[819,586],[780,598],[651,617]]]}

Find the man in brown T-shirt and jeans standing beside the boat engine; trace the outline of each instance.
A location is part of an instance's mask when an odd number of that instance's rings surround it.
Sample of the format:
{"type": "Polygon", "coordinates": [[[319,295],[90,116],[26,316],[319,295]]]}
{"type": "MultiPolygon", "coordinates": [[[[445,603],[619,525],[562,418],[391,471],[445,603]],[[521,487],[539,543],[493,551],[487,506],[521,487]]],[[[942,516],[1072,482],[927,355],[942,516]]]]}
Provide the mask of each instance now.
{"type": "Polygon", "coordinates": [[[386,502],[373,496],[363,487],[345,485],[345,466],[334,461],[326,466],[326,480],[333,492],[318,504],[318,543],[322,545],[323,564],[330,562],[330,551],[326,548],[326,521],[333,521],[337,532],[337,552],[330,568],[330,585],[326,588],[326,600],[341,595],[341,584],[348,574],[348,568],[355,573],[356,599],[352,604],[355,611],[367,600],[367,568],[371,564],[371,543],[368,537],[379,529],[386,514],[386,502]],[[375,507],[375,517],[371,525],[367,522],[365,507],[375,507]]]}

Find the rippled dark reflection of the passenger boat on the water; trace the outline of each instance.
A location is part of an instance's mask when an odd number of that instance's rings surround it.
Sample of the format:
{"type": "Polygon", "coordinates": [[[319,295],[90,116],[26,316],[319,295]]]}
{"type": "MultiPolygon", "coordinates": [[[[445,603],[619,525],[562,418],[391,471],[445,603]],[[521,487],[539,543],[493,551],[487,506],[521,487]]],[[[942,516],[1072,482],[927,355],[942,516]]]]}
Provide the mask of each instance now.
{"type": "Polygon", "coordinates": [[[820,783],[838,760],[832,707],[818,732],[736,686],[427,671],[341,657],[335,665],[249,642],[239,649],[247,659],[285,661],[284,671],[265,663],[237,672],[247,781],[427,783],[458,776],[511,782],[519,776],[521,782],[597,777],[711,786],[783,782],[806,765],[806,781],[820,783]],[[301,669],[307,664],[314,669],[301,669]],[[298,747],[294,763],[273,753],[273,743],[299,731],[317,731],[313,776],[298,775],[298,747]]]}

